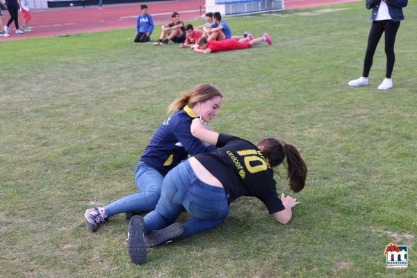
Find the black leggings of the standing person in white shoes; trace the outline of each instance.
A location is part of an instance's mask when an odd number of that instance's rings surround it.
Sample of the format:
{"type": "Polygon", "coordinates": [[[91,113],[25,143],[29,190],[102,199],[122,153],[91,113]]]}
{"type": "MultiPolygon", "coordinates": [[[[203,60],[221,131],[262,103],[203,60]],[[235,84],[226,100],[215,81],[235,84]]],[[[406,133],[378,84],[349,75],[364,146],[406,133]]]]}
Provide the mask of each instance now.
{"type": "Polygon", "coordinates": [[[382,36],[382,33],[385,32],[385,54],[386,54],[386,78],[391,78],[393,73],[394,63],[395,63],[395,54],[394,54],[394,44],[395,36],[397,35],[398,28],[400,27],[400,22],[393,22],[389,20],[381,20],[377,22],[372,22],[370,27],[369,37],[368,37],[368,47],[366,48],[365,62],[363,63],[363,77],[368,77],[370,67],[372,67],[373,56],[375,50],[377,49],[377,44],[379,39],[382,36]]]}

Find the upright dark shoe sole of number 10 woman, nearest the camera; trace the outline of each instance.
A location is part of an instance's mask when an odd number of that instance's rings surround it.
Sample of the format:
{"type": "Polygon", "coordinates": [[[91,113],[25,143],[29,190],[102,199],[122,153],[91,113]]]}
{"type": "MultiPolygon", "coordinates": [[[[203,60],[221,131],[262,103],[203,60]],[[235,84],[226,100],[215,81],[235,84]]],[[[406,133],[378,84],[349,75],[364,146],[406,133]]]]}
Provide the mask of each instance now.
{"type": "Polygon", "coordinates": [[[127,251],[133,263],[141,265],[146,262],[147,249],[143,238],[145,222],[142,216],[134,215],[129,221],[127,232],[127,251]]]}

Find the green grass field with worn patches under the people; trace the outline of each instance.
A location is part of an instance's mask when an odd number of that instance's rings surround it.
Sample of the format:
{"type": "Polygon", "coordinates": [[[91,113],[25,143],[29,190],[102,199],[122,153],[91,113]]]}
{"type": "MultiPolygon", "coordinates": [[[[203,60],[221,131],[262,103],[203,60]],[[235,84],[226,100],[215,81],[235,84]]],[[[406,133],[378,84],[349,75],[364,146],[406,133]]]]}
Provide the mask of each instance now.
{"type": "MultiPolygon", "coordinates": [[[[0,276],[416,277],[416,1],[385,92],[383,40],[370,85],[347,86],[361,75],[370,12],[326,8],[343,10],[228,18],[234,33],[268,32],[274,44],[206,56],[133,44],[133,28],[1,42],[0,276]],[[240,198],[220,227],[133,265],[124,215],[90,233],[83,213],[136,192],[136,163],[167,105],[202,82],[224,94],[213,129],[300,149],[300,204],[281,225],[240,198]],[[407,270],[386,269],[389,243],[408,246],[407,270]]],[[[278,176],[277,190],[290,194],[278,176]]]]}

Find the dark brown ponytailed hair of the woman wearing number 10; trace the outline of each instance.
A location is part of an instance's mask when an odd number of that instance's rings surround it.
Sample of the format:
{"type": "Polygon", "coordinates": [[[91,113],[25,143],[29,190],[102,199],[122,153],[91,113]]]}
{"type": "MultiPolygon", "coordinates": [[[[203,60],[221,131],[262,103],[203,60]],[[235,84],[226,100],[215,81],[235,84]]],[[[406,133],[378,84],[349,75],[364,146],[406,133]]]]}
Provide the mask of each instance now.
{"type": "Polygon", "coordinates": [[[290,188],[295,193],[304,188],[307,166],[301,158],[300,152],[293,146],[275,138],[266,138],[258,144],[261,152],[268,158],[272,167],[278,166],[286,157],[287,179],[290,180],[290,188]]]}

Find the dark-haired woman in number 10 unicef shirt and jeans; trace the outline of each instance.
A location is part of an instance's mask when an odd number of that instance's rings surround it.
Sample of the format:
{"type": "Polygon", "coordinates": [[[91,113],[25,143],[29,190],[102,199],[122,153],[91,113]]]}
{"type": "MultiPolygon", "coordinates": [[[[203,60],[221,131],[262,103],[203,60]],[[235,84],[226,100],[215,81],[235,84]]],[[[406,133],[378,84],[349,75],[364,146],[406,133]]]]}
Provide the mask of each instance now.
{"type": "Polygon", "coordinates": [[[147,261],[147,247],[218,226],[226,219],[229,204],[240,196],[260,199],[270,215],[282,224],[293,217],[297,199],[284,194],[278,197],[272,168],[285,159],[290,188],[300,192],[307,167],[295,147],[275,138],[261,140],[256,146],[236,136],[205,129],[199,118],[193,120],[191,133],[218,149],[197,154],[174,167],[163,180],[155,210],[145,218],[131,218],[128,252],[133,263],[147,261]],[[184,210],[193,217],[171,224],[184,210]]]}

